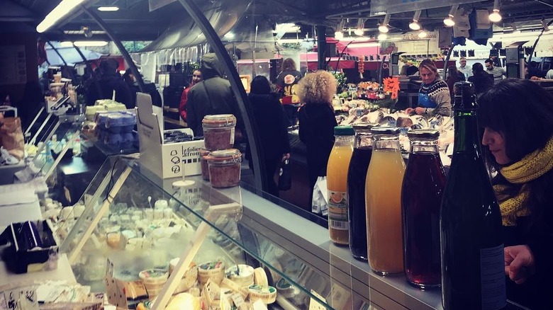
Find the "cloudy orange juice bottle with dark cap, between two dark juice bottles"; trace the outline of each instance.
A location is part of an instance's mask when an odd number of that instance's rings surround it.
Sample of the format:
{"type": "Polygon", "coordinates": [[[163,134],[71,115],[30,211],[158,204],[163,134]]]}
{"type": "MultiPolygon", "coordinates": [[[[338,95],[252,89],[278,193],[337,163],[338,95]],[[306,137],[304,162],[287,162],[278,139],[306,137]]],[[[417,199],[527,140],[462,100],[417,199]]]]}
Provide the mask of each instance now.
{"type": "Polygon", "coordinates": [[[374,127],[372,158],[367,170],[367,247],[369,265],[379,275],[403,272],[401,183],[405,163],[399,128],[374,127]]]}

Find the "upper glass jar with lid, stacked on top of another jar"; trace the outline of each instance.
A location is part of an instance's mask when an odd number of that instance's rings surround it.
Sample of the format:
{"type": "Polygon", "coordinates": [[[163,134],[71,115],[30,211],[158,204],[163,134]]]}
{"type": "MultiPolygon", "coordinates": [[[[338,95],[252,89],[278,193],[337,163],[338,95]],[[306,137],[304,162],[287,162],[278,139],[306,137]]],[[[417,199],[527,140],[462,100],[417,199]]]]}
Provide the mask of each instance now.
{"type": "Polygon", "coordinates": [[[209,151],[231,149],[234,145],[236,117],[232,114],[206,115],[201,121],[205,148],[209,151]]]}

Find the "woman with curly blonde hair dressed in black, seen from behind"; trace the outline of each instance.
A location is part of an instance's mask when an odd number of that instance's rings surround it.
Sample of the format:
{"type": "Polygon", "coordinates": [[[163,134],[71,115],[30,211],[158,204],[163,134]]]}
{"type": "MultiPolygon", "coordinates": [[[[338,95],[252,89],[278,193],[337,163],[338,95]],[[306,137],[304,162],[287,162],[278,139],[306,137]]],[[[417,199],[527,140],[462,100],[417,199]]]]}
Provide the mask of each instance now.
{"type": "MultiPolygon", "coordinates": [[[[311,190],[318,176],[326,176],[328,156],[334,144],[337,123],[332,100],[335,93],[336,79],[327,71],[307,74],[298,84],[298,96],[305,103],[298,113],[299,136],[307,147],[311,190]]],[[[309,197],[311,200],[312,195],[309,197]]]]}

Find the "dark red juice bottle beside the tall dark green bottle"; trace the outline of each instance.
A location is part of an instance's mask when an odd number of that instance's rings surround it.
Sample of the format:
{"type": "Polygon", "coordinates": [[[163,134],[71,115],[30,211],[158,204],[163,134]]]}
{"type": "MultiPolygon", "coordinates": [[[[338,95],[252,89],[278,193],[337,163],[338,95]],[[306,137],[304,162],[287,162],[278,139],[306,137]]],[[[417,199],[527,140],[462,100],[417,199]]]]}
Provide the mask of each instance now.
{"type": "Polygon", "coordinates": [[[403,259],[407,280],[415,286],[440,285],[440,205],[445,188],[445,172],[437,149],[437,130],[411,130],[407,133],[411,151],[403,187],[403,259]]]}

